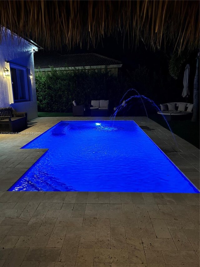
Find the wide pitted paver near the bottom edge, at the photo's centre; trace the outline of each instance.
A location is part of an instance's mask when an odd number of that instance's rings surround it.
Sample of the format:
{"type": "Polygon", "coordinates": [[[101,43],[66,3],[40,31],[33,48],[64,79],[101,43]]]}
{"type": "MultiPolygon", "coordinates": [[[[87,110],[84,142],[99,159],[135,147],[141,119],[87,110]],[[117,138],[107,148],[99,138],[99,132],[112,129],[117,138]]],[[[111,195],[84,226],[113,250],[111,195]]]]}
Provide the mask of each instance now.
{"type": "Polygon", "coordinates": [[[94,262],[128,263],[128,252],[126,249],[94,249],[94,262]]]}

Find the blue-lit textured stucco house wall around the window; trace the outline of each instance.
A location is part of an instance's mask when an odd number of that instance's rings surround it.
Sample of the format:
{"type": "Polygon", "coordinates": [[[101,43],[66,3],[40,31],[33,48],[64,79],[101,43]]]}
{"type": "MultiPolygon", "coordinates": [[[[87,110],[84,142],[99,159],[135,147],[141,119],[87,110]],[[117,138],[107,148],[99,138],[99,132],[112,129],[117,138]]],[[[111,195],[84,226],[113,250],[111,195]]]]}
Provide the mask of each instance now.
{"type": "Polygon", "coordinates": [[[2,36],[0,42],[0,108],[11,106],[16,112],[27,112],[28,120],[32,120],[38,116],[33,59],[33,49],[35,47],[26,40],[17,37],[17,35],[12,36],[10,31],[7,33],[7,37],[2,36]],[[11,76],[5,77],[3,71],[6,67],[6,62],[30,69],[32,74],[31,101],[10,103],[9,92],[12,90],[9,91],[8,84],[10,83],[12,87],[11,76]]]}

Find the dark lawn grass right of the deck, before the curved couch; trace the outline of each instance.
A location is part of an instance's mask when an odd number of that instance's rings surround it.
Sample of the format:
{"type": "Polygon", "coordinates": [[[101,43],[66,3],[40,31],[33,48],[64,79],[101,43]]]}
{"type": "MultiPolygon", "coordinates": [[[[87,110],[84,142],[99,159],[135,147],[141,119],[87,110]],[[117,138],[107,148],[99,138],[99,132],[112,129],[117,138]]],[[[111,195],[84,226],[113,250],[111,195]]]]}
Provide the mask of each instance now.
{"type": "MultiPolygon", "coordinates": [[[[151,115],[149,118],[169,130],[166,121],[162,117],[151,115]]],[[[199,121],[168,121],[168,123],[174,134],[199,148],[199,121]]]]}

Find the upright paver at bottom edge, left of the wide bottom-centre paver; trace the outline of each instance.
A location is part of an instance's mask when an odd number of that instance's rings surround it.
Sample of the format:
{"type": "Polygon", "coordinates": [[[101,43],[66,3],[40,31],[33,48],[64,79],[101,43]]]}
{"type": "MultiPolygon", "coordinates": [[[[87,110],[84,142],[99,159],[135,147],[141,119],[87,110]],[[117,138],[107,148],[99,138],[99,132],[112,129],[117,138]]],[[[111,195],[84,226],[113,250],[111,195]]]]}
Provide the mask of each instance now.
{"type": "Polygon", "coordinates": [[[94,249],[78,249],[75,267],[93,267],[94,249]]]}

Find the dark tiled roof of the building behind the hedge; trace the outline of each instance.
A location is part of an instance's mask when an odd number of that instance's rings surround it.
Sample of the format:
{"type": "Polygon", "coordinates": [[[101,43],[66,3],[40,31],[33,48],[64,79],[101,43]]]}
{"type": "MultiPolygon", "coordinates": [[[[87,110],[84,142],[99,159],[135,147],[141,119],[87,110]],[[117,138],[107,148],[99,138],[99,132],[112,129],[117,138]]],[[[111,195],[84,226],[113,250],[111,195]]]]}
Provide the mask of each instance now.
{"type": "Polygon", "coordinates": [[[110,59],[105,56],[88,53],[88,54],[70,54],[61,55],[58,53],[53,54],[34,54],[35,69],[62,67],[82,67],[82,66],[101,66],[101,65],[117,65],[122,64],[121,61],[110,59]]]}

